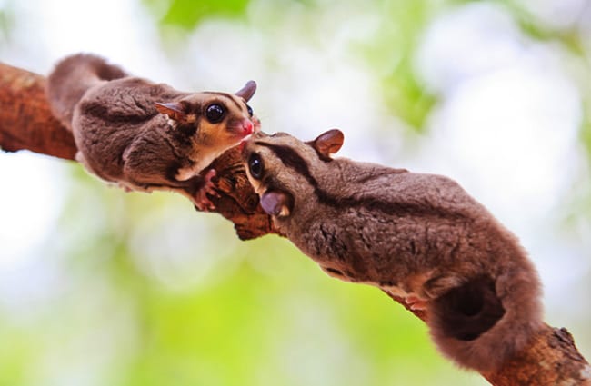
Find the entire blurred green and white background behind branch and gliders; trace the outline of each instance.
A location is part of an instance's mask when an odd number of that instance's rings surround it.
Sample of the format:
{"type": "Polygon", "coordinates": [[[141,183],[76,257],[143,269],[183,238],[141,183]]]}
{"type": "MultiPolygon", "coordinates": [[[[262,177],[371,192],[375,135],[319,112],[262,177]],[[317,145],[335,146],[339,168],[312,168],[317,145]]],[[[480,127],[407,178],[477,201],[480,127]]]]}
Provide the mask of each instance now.
{"type": "MultiPolygon", "coordinates": [[[[267,132],[338,127],[342,155],[455,178],[591,358],[591,1],[0,0],[3,62],[80,51],[183,90],[255,79],[267,132]]],[[[2,386],[486,384],[278,237],[43,155],[0,176],[2,386]]]]}

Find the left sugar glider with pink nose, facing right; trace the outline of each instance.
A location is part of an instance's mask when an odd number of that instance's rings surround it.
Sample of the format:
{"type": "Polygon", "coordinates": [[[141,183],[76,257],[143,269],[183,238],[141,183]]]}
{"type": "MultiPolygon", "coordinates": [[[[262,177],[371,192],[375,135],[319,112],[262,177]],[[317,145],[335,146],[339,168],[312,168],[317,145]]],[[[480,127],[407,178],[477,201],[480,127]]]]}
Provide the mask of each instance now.
{"type": "Polygon", "coordinates": [[[258,128],[246,104],[254,93],[252,81],[236,94],[180,92],[92,54],[66,57],[47,84],[52,111],[72,130],[76,158],[89,171],[131,190],[194,200],[207,183],[199,173],[258,128]],[[220,122],[206,119],[212,104],[225,109],[220,122]]]}

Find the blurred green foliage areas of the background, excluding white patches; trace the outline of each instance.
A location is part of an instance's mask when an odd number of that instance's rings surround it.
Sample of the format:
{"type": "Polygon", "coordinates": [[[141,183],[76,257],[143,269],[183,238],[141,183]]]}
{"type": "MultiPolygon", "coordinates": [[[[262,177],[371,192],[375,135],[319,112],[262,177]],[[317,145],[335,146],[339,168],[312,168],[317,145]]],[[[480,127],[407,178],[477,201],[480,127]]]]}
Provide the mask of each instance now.
{"type": "MultiPolygon", "coordinates": [[[[438,95],[416,78],[417,41],[436,15],[466,3],[144,4],[164,47],[172,45],[171,34],[182,45],[212,20],[270,37],[294,18],[302,38],[315,45],[326,38],[331,9],[371,8],[379,15],[375,31],[349,49],[376,77],[389,113],[409,132],[422,133],[438,95]]],[[[575,31],[547,28],[516,1],[494,3],[510,9],[528,35],[589,64],[588,46],[575,31]]],[[[0,28],[8,31],[6,15],[0,12],[0,28]]],[[[589,73],[580,80],[591,83],[589,73]]],[[[589,151],[591,87],[586,90],[580,137],[589,151]]],[[[274,236],[239,242],[230,223],[195,213],[181,197],[124,194],[77,165],[65,169],[72,176],[67,205],[53,242],[39,251],[45,268],[56,264],[65,272],[43,302],[25,304],[19,314],[0,305],[0,386],[486,384],[442,359],[424,324],[385,294],[328,278],[289,242],[274,236]]],[[[589,215],[589,197],[580,198],[572,217],[589,215]]]]}

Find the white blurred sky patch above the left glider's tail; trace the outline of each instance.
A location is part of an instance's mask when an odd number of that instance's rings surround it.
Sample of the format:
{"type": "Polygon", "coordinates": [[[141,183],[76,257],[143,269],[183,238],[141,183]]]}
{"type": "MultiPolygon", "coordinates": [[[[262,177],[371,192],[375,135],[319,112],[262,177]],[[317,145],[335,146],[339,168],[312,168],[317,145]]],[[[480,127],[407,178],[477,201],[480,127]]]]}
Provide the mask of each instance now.
{"type": "Polygon", "coordinates": [[[165,56],[159,49],[157,26],[133,0],[28,0],[14,2],[18,23],[5,48],[15,65],[48,73],[55,62],[79,52],[105,56],[125,64],[131,74],[165,78],[165,56]],[[22,4],[21,4],[22,3],[22,4]],[[21,63],[25,61],[25,63],[21,63]]]}

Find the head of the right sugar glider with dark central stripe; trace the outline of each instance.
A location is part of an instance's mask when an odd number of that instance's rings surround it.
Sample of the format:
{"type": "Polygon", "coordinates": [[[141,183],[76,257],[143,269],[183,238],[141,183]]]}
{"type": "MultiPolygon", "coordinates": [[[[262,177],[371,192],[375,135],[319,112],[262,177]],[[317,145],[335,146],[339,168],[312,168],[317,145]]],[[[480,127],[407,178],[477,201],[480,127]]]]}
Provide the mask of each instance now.
{"type": "Polygon", "coordinates": [[[314,200],[324,167],[342,146],[344,135],[333,129],[314,141],[302,142],[292,135],[257,134],[245,142],[242,159],[248,180],[259,195],[266,213],[286,218],[298,206],[314,200]]]}

